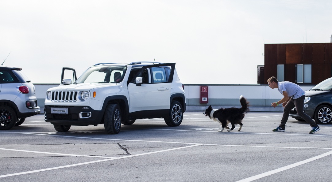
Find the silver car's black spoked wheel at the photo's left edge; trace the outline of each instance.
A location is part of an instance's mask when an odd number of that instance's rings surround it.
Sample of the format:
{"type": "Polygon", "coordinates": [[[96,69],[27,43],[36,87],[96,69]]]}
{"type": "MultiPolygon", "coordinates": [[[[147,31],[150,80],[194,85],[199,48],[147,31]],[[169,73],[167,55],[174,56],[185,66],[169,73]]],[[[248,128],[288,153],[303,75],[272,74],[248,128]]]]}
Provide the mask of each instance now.
{"type": "Polygon", "coordinates": [[[0,130],[11,129],[16,122],[16,111],[9,106],[0,106],[0,130]]]}

